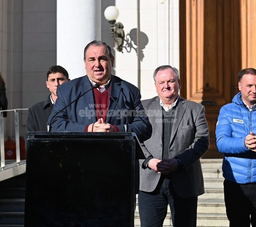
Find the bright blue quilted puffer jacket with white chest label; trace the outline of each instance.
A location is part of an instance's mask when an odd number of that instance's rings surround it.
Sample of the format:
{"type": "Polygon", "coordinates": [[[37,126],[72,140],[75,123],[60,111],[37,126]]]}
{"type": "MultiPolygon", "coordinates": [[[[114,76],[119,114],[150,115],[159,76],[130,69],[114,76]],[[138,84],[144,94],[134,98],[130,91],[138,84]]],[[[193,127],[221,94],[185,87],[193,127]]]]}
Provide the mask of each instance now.
{"type": "Polygon", "coordinates": [[[224,154],[222,171],[228,181],[256,183],[256,152],[244,144],[250,131],[256,135],[256,108],[250,112],[239,92],[220,109],[216,126],[216,145],[224,154]]]}

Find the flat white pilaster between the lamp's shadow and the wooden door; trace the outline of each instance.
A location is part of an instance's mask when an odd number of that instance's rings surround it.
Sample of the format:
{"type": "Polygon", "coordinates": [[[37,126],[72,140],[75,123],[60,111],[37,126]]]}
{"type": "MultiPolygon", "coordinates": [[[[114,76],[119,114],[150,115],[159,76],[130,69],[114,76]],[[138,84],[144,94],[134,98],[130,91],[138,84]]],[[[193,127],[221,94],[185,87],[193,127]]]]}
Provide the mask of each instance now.
{"type": "Polygon", "coordinates": [[[140,90],[142,99],[147,99],[157,95],[153,80],[157,67],[180,69],[179,0],[140,0],[140,32],[140,90]]]}

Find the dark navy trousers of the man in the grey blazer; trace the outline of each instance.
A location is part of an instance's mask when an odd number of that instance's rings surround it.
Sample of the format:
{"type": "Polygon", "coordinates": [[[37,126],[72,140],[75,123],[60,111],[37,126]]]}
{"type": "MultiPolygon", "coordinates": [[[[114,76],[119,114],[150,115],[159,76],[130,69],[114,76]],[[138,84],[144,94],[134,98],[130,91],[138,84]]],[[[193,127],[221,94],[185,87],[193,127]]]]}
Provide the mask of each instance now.
{"type": "Polygon", "coordinates": [[[142,192],[138,195],[140,227],[162,227],[171,208],[174,227],[196,227],[197,197],[182,199],[169,179],[161,179],[154,192],[142,192]]]}

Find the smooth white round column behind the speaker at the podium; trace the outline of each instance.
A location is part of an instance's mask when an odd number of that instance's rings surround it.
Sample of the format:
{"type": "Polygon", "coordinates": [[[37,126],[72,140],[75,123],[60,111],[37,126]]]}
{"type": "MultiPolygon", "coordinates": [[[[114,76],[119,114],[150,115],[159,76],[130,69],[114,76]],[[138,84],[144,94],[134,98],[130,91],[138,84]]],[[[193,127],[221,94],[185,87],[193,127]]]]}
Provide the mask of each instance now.
{"type": "Polygon", "coordinates": [[[57,0],[57,65],[70,79],[86,74],[84,47],[101,38],[100,0],[57,0]]]}

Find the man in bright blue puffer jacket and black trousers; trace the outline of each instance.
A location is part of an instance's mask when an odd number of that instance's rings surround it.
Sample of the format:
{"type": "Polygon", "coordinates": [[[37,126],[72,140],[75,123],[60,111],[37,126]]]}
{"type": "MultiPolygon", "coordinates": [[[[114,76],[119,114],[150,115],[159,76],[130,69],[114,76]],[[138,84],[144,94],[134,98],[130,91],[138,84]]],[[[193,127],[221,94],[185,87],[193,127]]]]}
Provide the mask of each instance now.
{"type": "Polygon", "coordinates": [[[256,69],[238,74],[240,92],[220,109],[216,145],[222,170],[229,226],[256,226],[256,69]],[[254,109],[255,108],[255,109],[254,109]]]}

